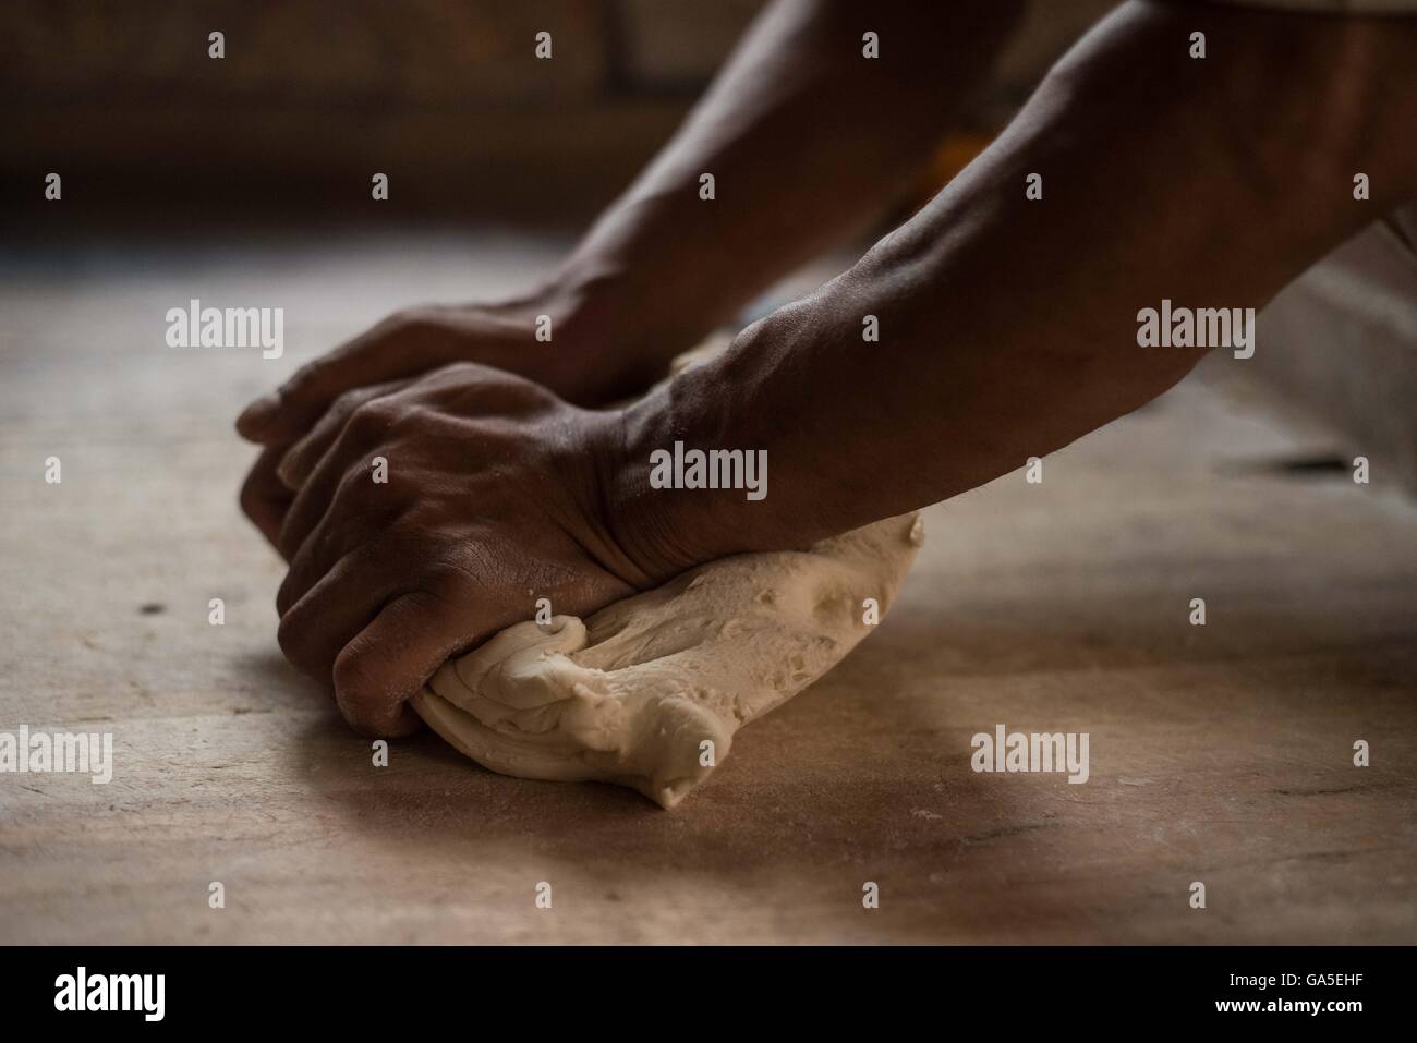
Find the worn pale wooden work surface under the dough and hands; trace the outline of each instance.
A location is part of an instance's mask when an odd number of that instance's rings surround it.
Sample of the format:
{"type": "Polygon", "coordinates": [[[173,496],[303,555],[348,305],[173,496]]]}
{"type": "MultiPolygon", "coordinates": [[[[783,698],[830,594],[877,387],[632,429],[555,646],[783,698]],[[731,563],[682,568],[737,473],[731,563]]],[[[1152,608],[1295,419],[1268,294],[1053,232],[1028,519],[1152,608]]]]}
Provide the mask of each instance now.
{"type": "Polygon", "coordinates": [[[1041,485],[932,509],[880,631],[676,812],[429,734],[378,769],[279,656],[230,422],[384,312],[550,247],[232,242],[4,274],[0,730],[112,731],[116,771],[0,775],[0,942],[1417,941],[1417,510],[1382,475],[1271,466],[1322,434],[1193,378],[1041,485]],[[286,357],[167,349],[193,296],[283,306],[286,357]],[[973,774],[999,723],[1090,733],[1091,779],[973,774]]]}

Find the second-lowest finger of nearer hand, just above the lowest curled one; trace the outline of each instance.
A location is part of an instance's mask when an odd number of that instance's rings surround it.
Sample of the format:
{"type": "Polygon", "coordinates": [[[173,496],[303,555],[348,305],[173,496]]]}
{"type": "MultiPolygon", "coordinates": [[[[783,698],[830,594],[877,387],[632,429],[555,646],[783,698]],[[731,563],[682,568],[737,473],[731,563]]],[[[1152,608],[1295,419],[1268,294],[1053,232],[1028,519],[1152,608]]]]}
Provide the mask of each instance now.
{"type": "Polygon", "coordinates": [[[289,608],[276,639],[298,670],[333,689],[334,659],[407,582],[407,561],[383,548],[346,554],[289,608]]]}

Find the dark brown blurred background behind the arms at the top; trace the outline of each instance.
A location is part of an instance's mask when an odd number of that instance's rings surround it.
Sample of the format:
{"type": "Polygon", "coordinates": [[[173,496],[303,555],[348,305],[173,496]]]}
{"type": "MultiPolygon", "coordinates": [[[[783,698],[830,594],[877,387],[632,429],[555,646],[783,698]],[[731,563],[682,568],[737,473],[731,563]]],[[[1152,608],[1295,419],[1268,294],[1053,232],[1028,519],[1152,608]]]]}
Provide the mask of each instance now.
{"type": "MultiPolygon", "coordinates": [[[[761,6],[11,0],[0,163],[23,184],[74,171],[67,208],[89,217],[154,201],[208,217],[367,213],[368,179],[351,171],[378,170],[402,217],[584,221],[670,135],[761,6]],[[214,30],[222,61],[207,57],[214,30]],[[531,61],[543,30],[554,58],[531,61]]],[[[1111,6],[1039,4],[942,163],[966,160],[1111,6]]]]}

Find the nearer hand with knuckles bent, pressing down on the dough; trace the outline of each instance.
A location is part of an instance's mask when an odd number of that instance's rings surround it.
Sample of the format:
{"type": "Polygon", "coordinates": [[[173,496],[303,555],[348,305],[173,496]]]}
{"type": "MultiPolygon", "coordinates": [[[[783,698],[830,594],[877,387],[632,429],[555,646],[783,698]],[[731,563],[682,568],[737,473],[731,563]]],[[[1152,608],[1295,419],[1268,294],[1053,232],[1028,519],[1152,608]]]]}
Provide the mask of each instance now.
{"type": "Polygon", "coordinates": [[[402,734],[405,700],[537,598],[585,615],[667,578],[606,516],[621,444],[619,412],[470,363],[346,394],[286,472],[281,648],[356,730],[402,734]]]}

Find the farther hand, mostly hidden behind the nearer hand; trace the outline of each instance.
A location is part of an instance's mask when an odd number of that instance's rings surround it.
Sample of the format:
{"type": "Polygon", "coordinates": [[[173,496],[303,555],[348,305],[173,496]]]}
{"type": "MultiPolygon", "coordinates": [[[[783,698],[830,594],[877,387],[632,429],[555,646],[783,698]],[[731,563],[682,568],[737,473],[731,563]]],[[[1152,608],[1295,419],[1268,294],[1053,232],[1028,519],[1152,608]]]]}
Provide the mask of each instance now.
{"type": "Polygon", "coordinates": [[[336,398],[354,388],[475,361],[520,374],[581,404],[643,390],[659,376],[669,349],[656,346],[657,354],[650,356],[623,336],[611,342],[601,334],[616,310],[609,295],[602,292],[592,303],[585,293],[572,300],[575,296],[555,289],[500,305],[398,312],[302,367],[237,419],[242,436],[265,446],[241,490],[247,516],[276,543],[293,499],[292,487],[281,479],[286,448],[306,435],[336,398]],[[541,315],[551,319],[550,343],[536,340],[541,315]]]}

